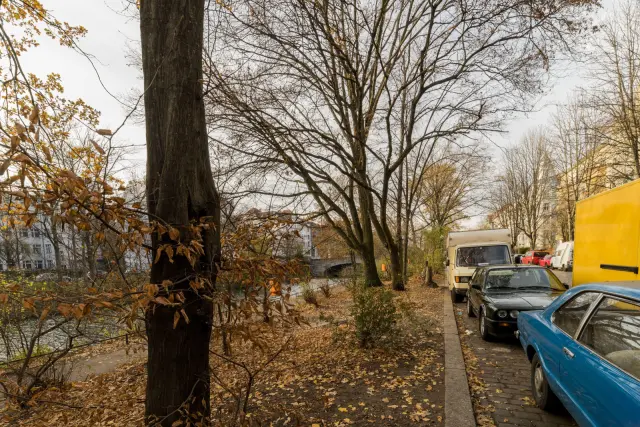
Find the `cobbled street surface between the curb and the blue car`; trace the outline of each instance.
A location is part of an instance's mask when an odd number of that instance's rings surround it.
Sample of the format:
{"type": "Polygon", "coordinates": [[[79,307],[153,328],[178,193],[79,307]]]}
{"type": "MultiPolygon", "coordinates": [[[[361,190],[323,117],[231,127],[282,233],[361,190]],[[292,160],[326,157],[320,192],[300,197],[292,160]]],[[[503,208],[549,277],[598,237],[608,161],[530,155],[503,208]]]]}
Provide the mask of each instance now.
{"type": "MultiPolygon", "coordinates": [[[[564,281],[566,277],[560,279],[564,281]]],[[[470,332],[462,339],[467,341],[478,358],[478,372],[487,386],[487,400],[481,404],[495,408],[492,416],[498,427],[576,425],[566,412],[553,415],[533,406],[531,367],[515,338],[509,341],[483,341],[478,336],[478,320],[466,315],[465,304],[455,304],[454,310],[456,317],[463,320],[466,330],[470,332]]]]}

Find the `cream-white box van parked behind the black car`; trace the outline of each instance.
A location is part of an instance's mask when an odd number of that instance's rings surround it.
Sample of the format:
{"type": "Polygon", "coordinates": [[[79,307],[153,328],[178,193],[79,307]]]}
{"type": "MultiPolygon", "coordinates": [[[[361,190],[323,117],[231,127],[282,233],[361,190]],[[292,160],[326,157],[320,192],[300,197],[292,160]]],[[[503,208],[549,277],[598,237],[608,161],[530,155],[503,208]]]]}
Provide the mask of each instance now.
{"type": "Polygon", "coordinates": [[[461,302],[477,267],[512,264],[509,229],[453,231],[447,236],[445,278],[451,299],[461,302]]]}

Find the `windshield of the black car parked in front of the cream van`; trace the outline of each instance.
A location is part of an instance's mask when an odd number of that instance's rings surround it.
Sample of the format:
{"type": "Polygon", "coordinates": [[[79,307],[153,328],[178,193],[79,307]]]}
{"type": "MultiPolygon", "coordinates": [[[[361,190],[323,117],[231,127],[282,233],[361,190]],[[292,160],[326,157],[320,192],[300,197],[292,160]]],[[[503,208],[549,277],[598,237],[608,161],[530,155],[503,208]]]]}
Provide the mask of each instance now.
{"type": "Polygon", "coordinates": [[[501,268],[490,270],[485,289],[553,289],[564,291],[556,276],[542,268],[501,268]]]}

